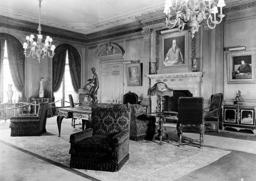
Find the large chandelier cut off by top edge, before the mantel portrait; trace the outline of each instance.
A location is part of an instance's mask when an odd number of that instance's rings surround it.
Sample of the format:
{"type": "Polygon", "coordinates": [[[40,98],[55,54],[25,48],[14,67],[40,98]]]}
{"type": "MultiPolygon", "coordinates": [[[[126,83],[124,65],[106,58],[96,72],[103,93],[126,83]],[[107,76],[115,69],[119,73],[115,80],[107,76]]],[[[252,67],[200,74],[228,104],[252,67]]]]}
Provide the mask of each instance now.
{"type": "Polygon", "coordinates": [[[224,0],[219,0],[218,4],[215,0],[166,0],[164,5],[164,13],[166,14],[165,24],[169,29],[175,28],[176,25],[179,31],[183,31],[185,24],[188,25],[188,31],[193,38],[200,27],[200,23],[206,20],[210,29],[214,29],[216,24],[221,23],[225,17],[222,14],[222,7],[226,6],[224,0]],[[216,20],[216,14],[219,12],[219,21],[216,20]],[[176,13],[176,18],[172,17],[171,10],[176,13]],[[212,18],[213,15],[213,18],[212,18]]]}

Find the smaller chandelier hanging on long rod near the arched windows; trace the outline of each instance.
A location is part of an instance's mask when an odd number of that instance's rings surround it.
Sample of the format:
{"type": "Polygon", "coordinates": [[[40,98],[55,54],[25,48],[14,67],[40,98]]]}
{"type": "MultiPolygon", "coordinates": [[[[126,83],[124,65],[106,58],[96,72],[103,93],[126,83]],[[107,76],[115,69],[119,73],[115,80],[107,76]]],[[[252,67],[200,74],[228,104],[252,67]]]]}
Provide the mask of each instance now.
{"type": "Polygon", "coordinates": [[[41,35],[41,25],[40,25],[40,16],[41,16],[41,1],[39,1],[39,25],[38,25],[38,34],[37,34],[37,41],[35,42],[33,39],[35,38],[34,35],[30,35],[26,37],[27,42],[23,44],[24,48],[24,54],[25,57],[32,56],[35,58],[37,57],[37,60],[41,61],[41,59],[44,59],[45,56],[49,56],[50,58],[53,58],[54,56],[54,49],[55,45],[52,45],[52,38],[50,36],[46,37],[45,43],[42,42],[42,35],[41,35]],[[29,48],[29,49],[28,49],[29,48]],[[27,49],[29,51],[29,54],[27,54],[27,49]]]}

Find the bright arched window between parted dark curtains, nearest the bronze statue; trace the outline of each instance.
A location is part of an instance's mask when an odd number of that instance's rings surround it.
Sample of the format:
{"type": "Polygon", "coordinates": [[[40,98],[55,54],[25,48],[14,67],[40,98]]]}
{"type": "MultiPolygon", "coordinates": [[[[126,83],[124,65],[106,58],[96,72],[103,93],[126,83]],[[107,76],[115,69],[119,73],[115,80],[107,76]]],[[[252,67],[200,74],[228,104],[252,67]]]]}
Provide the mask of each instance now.
{"type": "Polygon", "coordinates": [[[71,76],[70,76],[70,70],[69,70],[69,57],[68,57],[68,50],[66,53],[66,65],[65,65],[65,72],[63,75],[63,79],[60,85],[60,88],[58,92],[54,93],[55,101],[57,100],[65,100],[65,101],[58,101],[56,102],[56,107],[63,107],[63,106],[69,106],[69,94],[72,95],[74,102],[78,102],[78,94],[75,93],[75,90],[72,85],[71,76]]]}

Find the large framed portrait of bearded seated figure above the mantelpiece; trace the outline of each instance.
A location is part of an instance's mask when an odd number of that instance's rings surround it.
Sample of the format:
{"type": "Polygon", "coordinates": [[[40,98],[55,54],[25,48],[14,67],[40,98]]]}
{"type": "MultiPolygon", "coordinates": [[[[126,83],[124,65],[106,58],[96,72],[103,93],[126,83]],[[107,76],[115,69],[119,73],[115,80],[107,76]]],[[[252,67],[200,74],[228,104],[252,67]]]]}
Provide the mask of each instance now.
{"type": "Polygon", "coordinates": [[[162,66],[181,67],[187,66],[188,32],[177,32],[162,36],[162,66]]]}

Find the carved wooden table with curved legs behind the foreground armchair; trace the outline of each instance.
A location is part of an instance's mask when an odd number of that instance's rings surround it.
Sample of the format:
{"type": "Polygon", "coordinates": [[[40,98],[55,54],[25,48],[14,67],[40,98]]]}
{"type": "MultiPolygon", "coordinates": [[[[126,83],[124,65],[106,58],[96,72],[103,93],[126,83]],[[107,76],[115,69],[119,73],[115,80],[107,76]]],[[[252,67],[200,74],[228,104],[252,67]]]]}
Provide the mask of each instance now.
{"type": "Polygon", "coordinates": [[[82,119],[82,130],[84,130],[84,124],[86,124],[86,128],[91,127],[91,114],[92,111],[89,109],[84,109],[82,106],[74,107],[74,108],[59,108],[58,116],[57,116],[57,125],[60,137],[61,130],[61,122],[63,118],[77,118],[82,119]]]}

